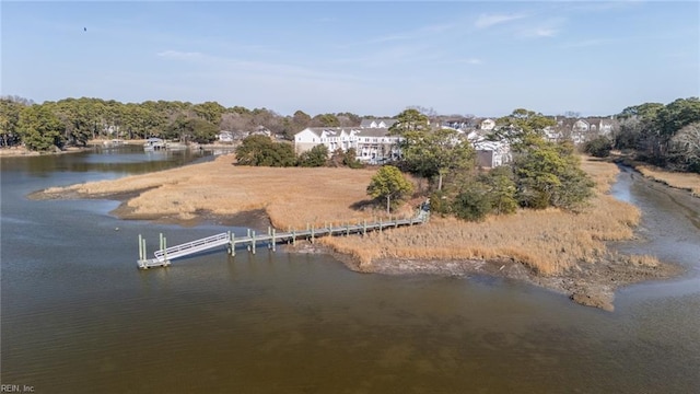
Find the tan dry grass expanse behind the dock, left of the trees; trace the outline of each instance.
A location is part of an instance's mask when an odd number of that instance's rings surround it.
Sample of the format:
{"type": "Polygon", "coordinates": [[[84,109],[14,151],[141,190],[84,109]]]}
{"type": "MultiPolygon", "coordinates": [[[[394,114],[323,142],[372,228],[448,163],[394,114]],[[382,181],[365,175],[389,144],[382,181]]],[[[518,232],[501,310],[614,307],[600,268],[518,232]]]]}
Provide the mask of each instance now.
{"type": "Polygon", "coordinates": [[[233,215],[265,209],[272,224],[280,229],[373,218],[374,211],[351,208],[369,198],[365,190],[373,170],[249,167],[234,166],[233,162],[232,155],[223,155],[213,162],[68,189],[88,195],[148,189],[127,202],[137,217],[171,216],[187,220],[202,210],[233,215]]]}

